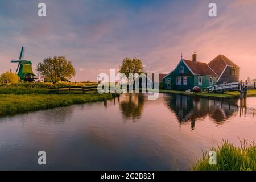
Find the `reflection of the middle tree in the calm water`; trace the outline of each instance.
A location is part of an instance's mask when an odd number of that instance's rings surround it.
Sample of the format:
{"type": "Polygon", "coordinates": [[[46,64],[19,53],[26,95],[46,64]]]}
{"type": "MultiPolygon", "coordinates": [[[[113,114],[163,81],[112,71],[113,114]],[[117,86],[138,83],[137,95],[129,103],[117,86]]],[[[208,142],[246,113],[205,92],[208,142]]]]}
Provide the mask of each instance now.
{"type": "Polygon", "coordinates": [[[145,96],[144,94],[126,94],[119,100],[123,119],[136,121],[141,118],[145,96]]]}

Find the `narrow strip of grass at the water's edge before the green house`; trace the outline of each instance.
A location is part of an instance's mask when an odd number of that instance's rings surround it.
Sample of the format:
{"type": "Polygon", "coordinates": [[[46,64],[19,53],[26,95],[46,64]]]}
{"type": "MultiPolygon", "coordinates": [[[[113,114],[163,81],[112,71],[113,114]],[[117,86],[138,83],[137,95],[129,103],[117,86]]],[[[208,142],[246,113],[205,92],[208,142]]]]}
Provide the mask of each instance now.
{"type": "MultiPolygon", "coordinates": [[[[176,90],[159,90],[160,93],[171,93],[171,94],[183,94],[187,96],[199,96],[199,97],[209,97],[209,98],[235,98],[237,95],[226,94],[226,93],[193,93],[193,92],[184,92],[184,91],[176,91],[176,90]]],[[[239,96],[239,94],[238,94],[239,96]]]]}

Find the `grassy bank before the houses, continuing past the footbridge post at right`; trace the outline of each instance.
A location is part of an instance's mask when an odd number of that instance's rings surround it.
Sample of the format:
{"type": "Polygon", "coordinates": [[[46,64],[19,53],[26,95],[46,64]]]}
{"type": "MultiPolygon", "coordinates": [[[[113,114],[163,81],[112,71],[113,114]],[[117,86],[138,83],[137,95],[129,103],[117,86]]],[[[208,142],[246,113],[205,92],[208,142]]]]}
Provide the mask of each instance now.
{"type": "MultiPolygon", "coordinates": [[[[176,90],[159,90],[159,93],[170,93],[170,94],[180,94],[185,96],[197,96],[197,97],[205,97],[205,98],[219,98],[219,99],[229,99],[229,98],[239,98],[239,92],[224,92],[224,93],[193,93],[193,92],[184,92],[184,91],[176,91],[176,90]]],[[[248,90],[247,96],[256,96],[256,90],[248,90]]]]}

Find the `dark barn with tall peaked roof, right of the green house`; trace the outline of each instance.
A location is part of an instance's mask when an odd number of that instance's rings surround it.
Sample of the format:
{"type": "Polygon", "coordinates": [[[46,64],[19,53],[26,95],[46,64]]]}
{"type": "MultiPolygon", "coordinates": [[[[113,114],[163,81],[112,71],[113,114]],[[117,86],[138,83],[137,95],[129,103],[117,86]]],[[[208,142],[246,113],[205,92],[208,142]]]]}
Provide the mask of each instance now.
{"type": "Polygon", "coordinates": [[[218,76],[217,84],[239,82],[240,67],[228,57],[218,55],[208,65],[218,76]]]}

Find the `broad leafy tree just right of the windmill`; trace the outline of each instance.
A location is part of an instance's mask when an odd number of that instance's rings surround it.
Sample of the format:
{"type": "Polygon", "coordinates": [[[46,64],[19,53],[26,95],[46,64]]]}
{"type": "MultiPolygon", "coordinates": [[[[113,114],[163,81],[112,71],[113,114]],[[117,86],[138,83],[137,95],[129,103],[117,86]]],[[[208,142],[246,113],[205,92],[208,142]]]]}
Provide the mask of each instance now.
{"type": "Polygon", "coordinates": [[[39,63],[36,69],[40,75],[51,82],[67,81],[76,75],[72,62],[65,56],[48,57],[43,63],[39,63]]]}

